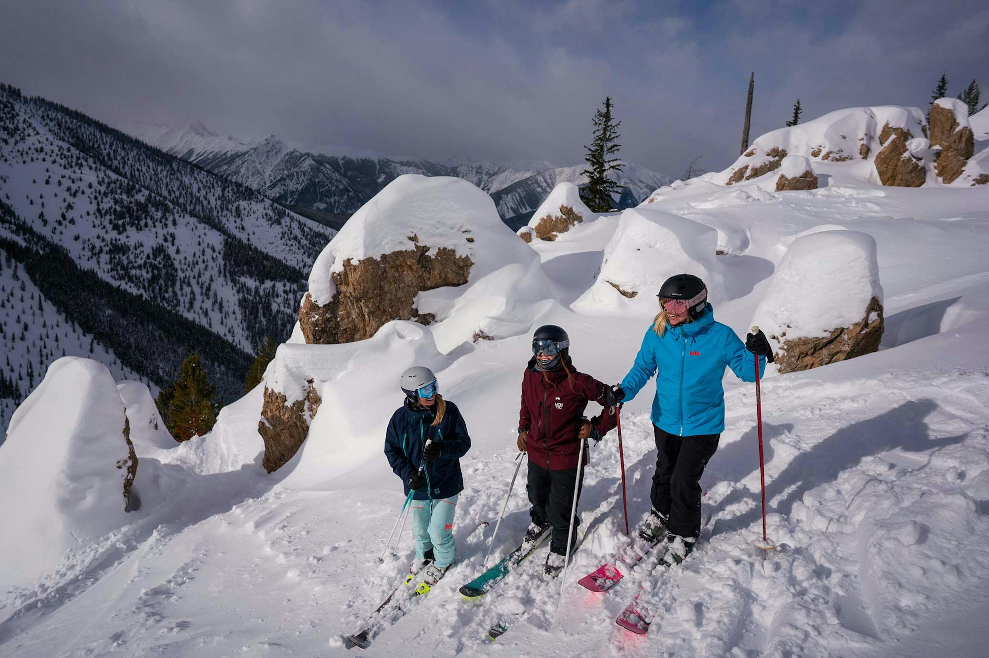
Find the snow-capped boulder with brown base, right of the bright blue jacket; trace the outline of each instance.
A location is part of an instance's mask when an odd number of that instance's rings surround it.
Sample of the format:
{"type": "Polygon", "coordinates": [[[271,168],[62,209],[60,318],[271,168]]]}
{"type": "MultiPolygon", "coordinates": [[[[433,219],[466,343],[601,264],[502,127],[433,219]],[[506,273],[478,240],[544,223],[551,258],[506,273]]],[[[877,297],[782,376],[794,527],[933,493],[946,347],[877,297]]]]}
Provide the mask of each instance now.
{"type": "Polygon", "coordinates": [[[778,346],[780,372],[807,370],[878,350],[882,301],[875,239],[818,231],[790,244],[753,324],[778,346]]]}

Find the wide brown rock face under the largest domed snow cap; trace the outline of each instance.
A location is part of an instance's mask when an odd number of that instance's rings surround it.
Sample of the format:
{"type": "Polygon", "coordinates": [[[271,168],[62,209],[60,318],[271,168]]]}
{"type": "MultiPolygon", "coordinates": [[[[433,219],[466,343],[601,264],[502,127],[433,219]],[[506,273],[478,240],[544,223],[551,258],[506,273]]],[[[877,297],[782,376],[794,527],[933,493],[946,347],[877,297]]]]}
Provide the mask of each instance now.
{"type": "MultiPolygon", "coordinates": [[[[417,243],[414,235],[408,238],[417,243]]],[[[374,336],[386,322],[414,320],[428,324],[434,318],[414,306],[422,290],[467,283],[473,262],[447,247],[428,254],[429,247],[395,251],[381,258],[347,259],[342,272],[330,276],[336,293],[319,306],[309,292],[299,309],[299,326],[307,343],[349,343],[374,336]]]]}

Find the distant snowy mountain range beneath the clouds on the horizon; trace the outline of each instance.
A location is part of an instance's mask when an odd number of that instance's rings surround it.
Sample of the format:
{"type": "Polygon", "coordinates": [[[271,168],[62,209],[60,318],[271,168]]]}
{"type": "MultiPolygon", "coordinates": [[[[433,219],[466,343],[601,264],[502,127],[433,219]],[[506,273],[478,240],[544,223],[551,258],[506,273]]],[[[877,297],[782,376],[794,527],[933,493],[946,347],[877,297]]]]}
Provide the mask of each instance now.
{"type": "MultiPolygon", "coordinates": [[[[512,228],[526,223],[558,183],[585,182],[581,175],[584,165],[530,170],[488,162],[438,164],[428,160],[328,155],[290,148],[275,135],[249,140],[223,136],[199,122],[181,127],[145,125],[126,129],[151,146],[242,183],[280,204],[329,213],[311,216],[334,227],[403,174],[455,176],[470,181],[492,196],[501,218],[512,228]]],[[[624,187],[615,205],[636,206],[673,180],[626,163],[618,178],[624,187]]]]}

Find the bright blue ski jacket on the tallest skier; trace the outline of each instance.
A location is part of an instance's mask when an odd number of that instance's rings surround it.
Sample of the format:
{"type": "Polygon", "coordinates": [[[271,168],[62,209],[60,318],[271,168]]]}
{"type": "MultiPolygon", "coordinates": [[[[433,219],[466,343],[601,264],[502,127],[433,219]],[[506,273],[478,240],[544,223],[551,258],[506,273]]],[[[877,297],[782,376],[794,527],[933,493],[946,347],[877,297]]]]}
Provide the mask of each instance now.
{"type": "MultiPolygon", "coordinates": [[[[760,372],[765,360],[759,358],[760,372]]],[[[693,322],[667,326],[660,337],[650,326],[632,370],[622,379],[631,400],[656,374],[650,418],[680,437],[721,434],[725,429],[725,367],[743,381],[756,380],[755,358],[727,325],[714,321],[711,304],[693,322]]]]}

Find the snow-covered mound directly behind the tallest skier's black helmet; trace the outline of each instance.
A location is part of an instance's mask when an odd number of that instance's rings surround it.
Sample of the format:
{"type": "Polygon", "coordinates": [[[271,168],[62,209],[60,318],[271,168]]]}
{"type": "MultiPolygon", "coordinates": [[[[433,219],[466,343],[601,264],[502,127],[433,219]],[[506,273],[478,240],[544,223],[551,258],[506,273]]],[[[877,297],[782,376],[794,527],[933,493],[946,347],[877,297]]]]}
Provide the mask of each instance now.
{"type": "Polygon", "coordinates": [[[585,315],[652,316],[663,282],[680,273],[700,277],[716,300],[722,289],[717,245],[718,231],[700,222],[650,207],[624,210],[597,280],[572,308],[585,315]]]}

